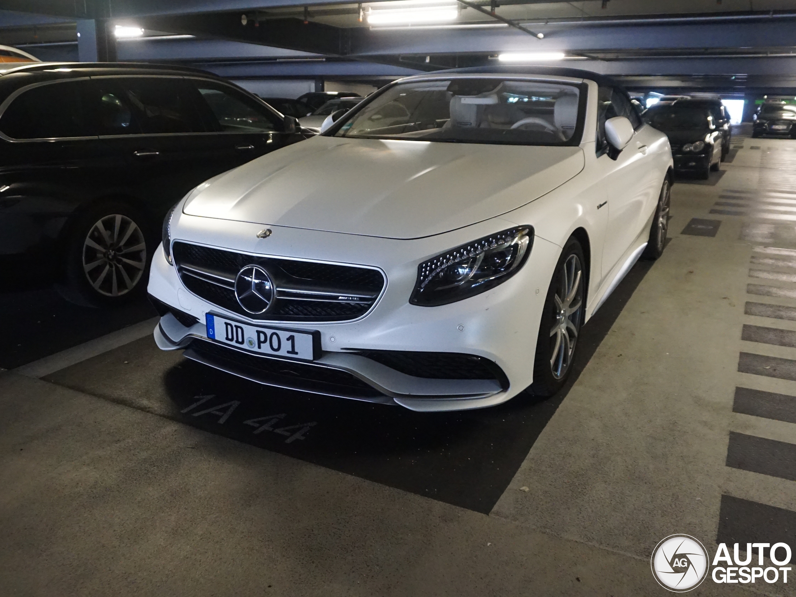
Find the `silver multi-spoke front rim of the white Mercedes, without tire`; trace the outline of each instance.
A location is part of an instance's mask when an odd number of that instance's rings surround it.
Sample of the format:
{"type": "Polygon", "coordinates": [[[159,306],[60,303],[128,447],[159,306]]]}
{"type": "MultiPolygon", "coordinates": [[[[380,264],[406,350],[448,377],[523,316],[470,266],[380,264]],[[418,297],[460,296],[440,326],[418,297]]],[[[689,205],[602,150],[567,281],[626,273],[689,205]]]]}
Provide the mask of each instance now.
{"type": "Polygon", "coordinates": [[[555,301],[556,322],[550,330],[552,350],[550,369],[560,380],[572,365],[575,345],[580,331],[580,310],[583,305],[583,268],[578,256],[571,255],[561,267],[555,301]]]}

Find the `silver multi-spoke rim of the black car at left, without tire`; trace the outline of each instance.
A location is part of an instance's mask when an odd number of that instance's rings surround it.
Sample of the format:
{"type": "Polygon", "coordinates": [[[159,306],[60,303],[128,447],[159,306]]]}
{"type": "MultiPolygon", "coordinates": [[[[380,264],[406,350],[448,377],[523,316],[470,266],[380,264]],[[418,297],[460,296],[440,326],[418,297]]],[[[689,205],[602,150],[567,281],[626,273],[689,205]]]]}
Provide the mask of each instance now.
{"type": "Polygon", "coordinates": [[[83,271],[100,295],[126,295],[139,283],[145,266],[144,235],[129,217],[113,213],[88,231],[83,243],[83,271]]]}

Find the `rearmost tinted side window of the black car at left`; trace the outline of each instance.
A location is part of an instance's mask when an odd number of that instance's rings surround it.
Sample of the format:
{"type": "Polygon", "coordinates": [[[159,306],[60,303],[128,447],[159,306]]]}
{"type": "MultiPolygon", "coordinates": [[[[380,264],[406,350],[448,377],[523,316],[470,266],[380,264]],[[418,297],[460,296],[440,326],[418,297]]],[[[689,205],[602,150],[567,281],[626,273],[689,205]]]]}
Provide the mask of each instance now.
{"type": "Polygon", "coordinates": [[[0,131],[11,139],[88,137],[84,84],[64,81],[22,92],[0,117],[0,131]]]}

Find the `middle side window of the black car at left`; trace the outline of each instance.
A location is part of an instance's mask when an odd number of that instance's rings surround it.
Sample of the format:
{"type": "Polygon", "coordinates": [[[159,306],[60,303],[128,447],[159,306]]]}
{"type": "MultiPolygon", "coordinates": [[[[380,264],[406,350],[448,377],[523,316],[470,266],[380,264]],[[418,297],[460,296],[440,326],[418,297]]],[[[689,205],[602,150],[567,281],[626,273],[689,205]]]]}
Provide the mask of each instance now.
{"type": "Polygon", "coordinates": [[[191,89],[176,77],[96,79],[103,135],[201,133],[191,89]]]}

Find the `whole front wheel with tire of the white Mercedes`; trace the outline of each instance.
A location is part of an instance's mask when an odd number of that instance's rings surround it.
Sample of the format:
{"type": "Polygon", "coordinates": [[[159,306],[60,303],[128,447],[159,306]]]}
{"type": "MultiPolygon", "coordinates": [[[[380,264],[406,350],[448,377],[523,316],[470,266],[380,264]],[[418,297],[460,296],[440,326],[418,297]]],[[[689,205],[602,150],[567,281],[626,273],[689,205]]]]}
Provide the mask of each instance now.
{"type": "Polygon", "coordinates": [[[571,236],[556,263],[539,324],[533,359],[533,396],[552,396],[566,383],[575,358],[586,297],[586,260],[571,236]],[[574,309],[572,308],[574,306],[574,309]]]}

